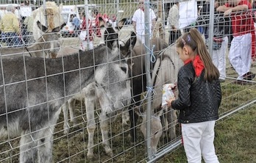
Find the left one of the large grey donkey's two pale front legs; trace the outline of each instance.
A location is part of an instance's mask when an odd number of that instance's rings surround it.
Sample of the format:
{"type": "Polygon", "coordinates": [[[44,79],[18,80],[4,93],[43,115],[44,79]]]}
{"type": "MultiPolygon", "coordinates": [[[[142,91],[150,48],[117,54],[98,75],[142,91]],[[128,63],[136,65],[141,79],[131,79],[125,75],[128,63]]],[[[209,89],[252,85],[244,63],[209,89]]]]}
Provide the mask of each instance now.
{"type": "Polygon", "coordinates": [[[35,162],[36,159],[36,144],[32,140],[29,132],[22,131],[21,132],[21,140],[20,140],[20,162],[35,162]]]}

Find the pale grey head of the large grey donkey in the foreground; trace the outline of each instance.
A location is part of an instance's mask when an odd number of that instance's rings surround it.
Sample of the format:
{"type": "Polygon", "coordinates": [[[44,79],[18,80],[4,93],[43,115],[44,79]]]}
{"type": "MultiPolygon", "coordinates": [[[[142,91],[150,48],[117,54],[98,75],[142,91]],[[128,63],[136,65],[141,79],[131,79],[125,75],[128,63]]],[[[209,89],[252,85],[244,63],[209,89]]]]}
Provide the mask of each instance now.
{"type": "Polygon", "coordinates": [[[131,87],[129,67],[126,59],[119,54],[117,40],[113,43],[112,49],[107,49],[107,62],[97,66],[95,80],[97,92],[99,92],[97,93],[99,95],[98,98],[101,99],[103,98],[102,95],[107,95],[107,98],[104,98],[104,101],[107,102],[101,104],[101,106],[105,106],[104,113],[108,116],[113,116],[115,115],[113,111],[122,109],[130,104],[131,87]]]}

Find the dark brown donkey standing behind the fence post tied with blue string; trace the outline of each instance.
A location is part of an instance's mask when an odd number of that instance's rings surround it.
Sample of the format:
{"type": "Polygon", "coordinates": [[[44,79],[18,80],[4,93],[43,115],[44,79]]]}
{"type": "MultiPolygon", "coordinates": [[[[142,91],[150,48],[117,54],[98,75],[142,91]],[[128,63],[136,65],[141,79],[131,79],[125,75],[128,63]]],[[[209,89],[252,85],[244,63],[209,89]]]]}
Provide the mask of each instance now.
{"type": "MultiPolygon", "coordinates": [[[[163,49],[167,48],[168,44],[160,39],[153,38],[150,40],[150,46],[148,47],[152,51],[152,57],[157,58],[163,49]]],[[[138,121],[138,115],[135,114],[135,109],[143,104],[141,101],[141,95],[143,92],[146,92],[146,70],[145,70],[145,54],[146,49],[141,44],[136,43],[133,48],[132,53],[129,56],[125,56],[132,60],[132,104],[129,106],[129,116],[130,116],[130,135],[132,137],[132,142],[136,142],[136,124],[138,121]]],[[[150,65],[151,70],[154,68],[154,63],[150,65]]]]}

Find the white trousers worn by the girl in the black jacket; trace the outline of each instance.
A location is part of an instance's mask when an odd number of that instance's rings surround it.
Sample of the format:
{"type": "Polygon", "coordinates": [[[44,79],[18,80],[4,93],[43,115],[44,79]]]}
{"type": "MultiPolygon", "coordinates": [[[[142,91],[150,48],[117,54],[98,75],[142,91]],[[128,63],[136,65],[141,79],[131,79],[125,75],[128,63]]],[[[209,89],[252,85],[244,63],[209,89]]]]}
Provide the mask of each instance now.
{"type": "Polygon", "coordinates": [[[219,163],[213,145],[215,120],[182,123],[182,139],[188,163],[219,163]],[[202,154],[202,155],[201,155],[202,154]]]}

